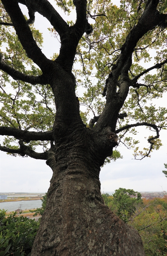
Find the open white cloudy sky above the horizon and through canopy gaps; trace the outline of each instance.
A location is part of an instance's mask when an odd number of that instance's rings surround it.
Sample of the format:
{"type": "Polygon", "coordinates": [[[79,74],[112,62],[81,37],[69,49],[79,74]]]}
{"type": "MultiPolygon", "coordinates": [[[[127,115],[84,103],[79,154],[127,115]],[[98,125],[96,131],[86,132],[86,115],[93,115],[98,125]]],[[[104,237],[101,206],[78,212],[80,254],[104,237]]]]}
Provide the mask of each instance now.
{"type": "MultiPolygon", "coordinates": [[[[50,2],[56,7],[54,1],[50,2]]],[[[119,0],[114,0],[114,4],[119,5],[119,0]]],[[[24,14],[27,15],[26,9],[24,14]]],[[[65,20],[69,17],[58,9],[65,20]]],[[[28,15],[27,15],[28,16],[28,15]]],[[[73,13],[75,19],[75,13],[73,13]]],[[[59,52],[58,43],[54,37],[50,36],[48,27],[50,23],[41,15],[36,13],[35,27],[43,33],[44,47],[42,51],[50,58],[54,52],[59,52]]],[[[147,64],[148,67],[152,66],[147,64]]],[[[156,106],[166,107],[167,93],[162,99],[154,102],[156,106]]],[[[149,136],[149,132],[144,127],[138,128],[138,139],[142,145],[147,146],[144,137],[149,136]]],[[[167,163],[167,131],[160,133],[163,146],[159,151],[152,153],[151,158],[134,160],[132,150],[120,146],[118,149],[123,155],[123,159],[111,162],[101,169],[100,181],[101,191],[114,191],[119,187],[134,189],[137,191],[161,191],[167,190],[167,178],[162,173],[164,163],[167,163]]],[[[30,157],[11,157],[5,152],[0,152],[0,192],[47,192],[52,177],[51,169],[44,160],[35,160],[30,157]]]]}

